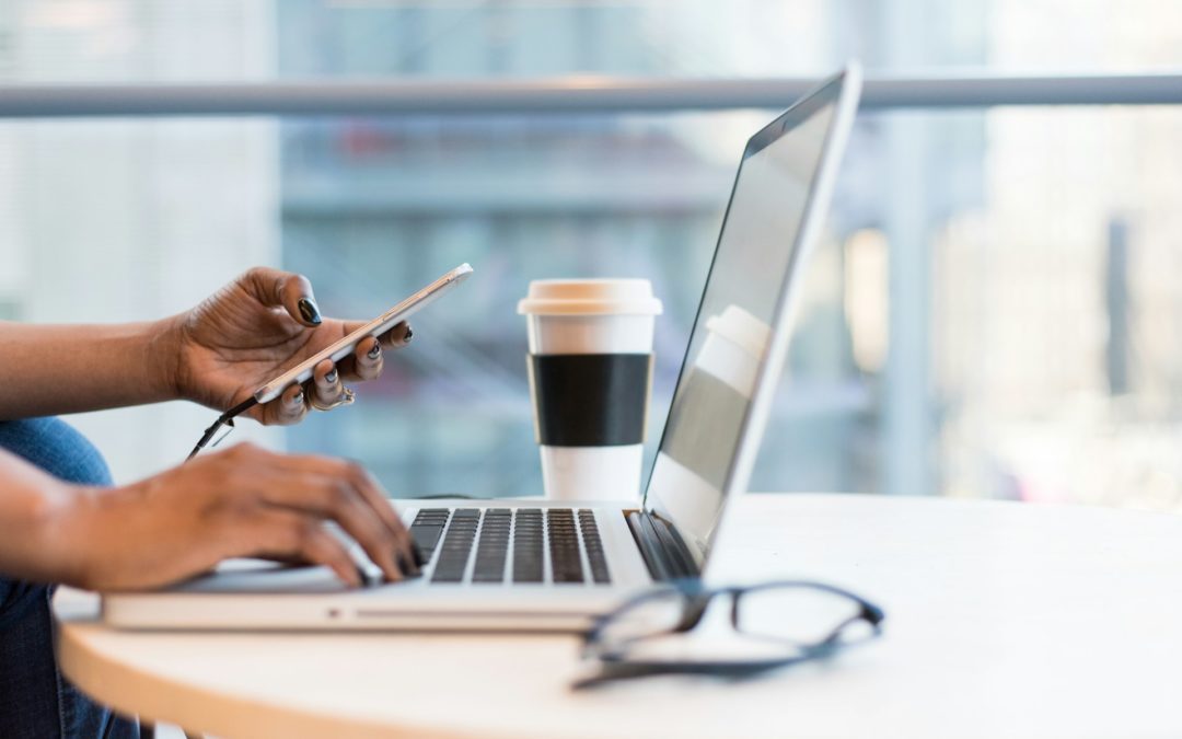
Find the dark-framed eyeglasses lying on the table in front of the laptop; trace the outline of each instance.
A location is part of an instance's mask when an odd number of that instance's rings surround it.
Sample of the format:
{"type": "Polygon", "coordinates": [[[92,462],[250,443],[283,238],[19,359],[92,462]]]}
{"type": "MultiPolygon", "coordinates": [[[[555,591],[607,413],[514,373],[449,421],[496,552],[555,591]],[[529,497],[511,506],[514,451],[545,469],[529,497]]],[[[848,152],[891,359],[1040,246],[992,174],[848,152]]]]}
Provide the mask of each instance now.
{"type": "Polygon", "coordinates": [[[877,637],[882,634],[882,623],[886,615],[882,608],[875,605],[870,601],[863,598],[862,596],[855,595],[849,590],[838,588],[836,585],[830,585],[827,583],[820,583],[816,581],[772,581],[766,583],[756,583],[753,585],[728,585],[723,588],[707,588],[702,584],[700,579],[677,579],[670,581],[668,583],[669,589],[657,589],[650,590],[642,595],[638,595],[609,614],[603,614],[596,617],[592,627],[583,635],[583,656],[584,657],[596,657],[599,660],[600,665],[604,667],[599,675],[592,675],[583,680],[577,681],[572,687],[574,689],[582,689],[587,687],[593,687],[604,682],[610,682],[612,680],[622,680],[628,678],[642,678],[648,675],[661,675],[661,674],[683,674],[683,675],[715,675],[722,678],[745,678],[749,675],[755,675],[771,669],[787,667],[790,665],[795,665],[799,662],[808,662],[813,660],[819,660],[832,655],[834,652],[842,647],[849,646],[840,641],[838,637],[842,635],[847,627],[859,621],[864,621],[871,628],[871,634],[865,641],[877,637]],[[858,612],[853,616],[839,622],[824,638],[800,644],[792,642],[791,640],[778,640],[769,636],[759,636],[743,631],[739,628],[739,602],[742,596],[747,592],[767,590],[773,588],[808,588],[812,590],[820,590],[824,592],[830,592],[844,598],[849,598],[858,605],[858,612]],[[622,614],[628,612],[632,608],[644,603],[648,599],[668,595],[669,592],[675,592],[682,597],[682,616],[681,621],[669,630],[655,631],[652,634],[644,634],[642,636],[636,636],[625,640],[618,644],[619,649],[613,652],[595,652],[596,647],[603,647],[603,633],[617,620],[622,614]],[[686,634],[696,628],[702,618],[706,616],[706,611],[709,609],[710,603],[717,597],[730,596],[730,627],[736,634],[753,638],[768,638],[771,641],[778,641],[784,643],[793,644],[799,654],[784,657],[764,659],[764,660],[706,660],[706,661],[676,661],[676,660],[636,660],[626,655],[628,647],[635,644],[636,642],[645,641],[649,638],[660,638],[663,636],[671,636],[674,634],[686,634]]]}

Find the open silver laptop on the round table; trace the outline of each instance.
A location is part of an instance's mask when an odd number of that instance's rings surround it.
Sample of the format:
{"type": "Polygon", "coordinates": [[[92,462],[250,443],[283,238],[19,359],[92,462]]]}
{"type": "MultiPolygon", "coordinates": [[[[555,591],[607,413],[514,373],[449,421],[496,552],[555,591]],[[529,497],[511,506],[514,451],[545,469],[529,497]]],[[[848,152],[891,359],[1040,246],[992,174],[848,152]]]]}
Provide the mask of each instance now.
{"type": "Polygon", "coordinates": [[[232,560],[164,590],[106,594],[105,621],[134,629],[582,630],[655,583],[700,577],[726,506],[755,462],[860,86],[850,65],[747,142],[639,503],[395,500],[427,559],[418,578],[348,589],[325,568],[232,560]]]}

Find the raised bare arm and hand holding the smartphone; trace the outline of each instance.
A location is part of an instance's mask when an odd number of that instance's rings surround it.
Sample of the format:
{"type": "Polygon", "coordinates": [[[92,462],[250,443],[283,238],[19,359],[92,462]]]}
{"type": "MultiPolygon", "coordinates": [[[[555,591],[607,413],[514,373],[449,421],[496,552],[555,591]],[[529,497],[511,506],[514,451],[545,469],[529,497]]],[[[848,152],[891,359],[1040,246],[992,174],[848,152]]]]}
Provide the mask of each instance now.
{"type": "MultiPolygon", "coordinates": [[[[26,325],[0,322],[0,420],[190,400],[227,410],[364,322],[322,318],[299,274],[255,267],[193,310],[152,323],[26,325]]],[[[382,374],[383,349],[404,346],[405,323],[366,338],[340,371],[325,359],[306,387],[247,414],[296,423],[307,395],[331,406],[343,381],[382,374]]]]}

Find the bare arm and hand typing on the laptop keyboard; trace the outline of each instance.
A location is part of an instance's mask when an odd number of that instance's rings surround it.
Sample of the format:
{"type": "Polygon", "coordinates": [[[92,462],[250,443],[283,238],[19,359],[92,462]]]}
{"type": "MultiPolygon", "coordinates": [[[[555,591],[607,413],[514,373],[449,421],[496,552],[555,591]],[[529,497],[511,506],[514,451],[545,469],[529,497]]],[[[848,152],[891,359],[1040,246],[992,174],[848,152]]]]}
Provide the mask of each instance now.
{"type": "Polygon", "coordinates": [[[359,585],[332,520],[390,581],[418,563],[377,482],[356,464],[239,445],[115,488],[70,485],[0,450],[0,572],[91,590],[136,590],[227,557],[330,566],[359,585]]]}

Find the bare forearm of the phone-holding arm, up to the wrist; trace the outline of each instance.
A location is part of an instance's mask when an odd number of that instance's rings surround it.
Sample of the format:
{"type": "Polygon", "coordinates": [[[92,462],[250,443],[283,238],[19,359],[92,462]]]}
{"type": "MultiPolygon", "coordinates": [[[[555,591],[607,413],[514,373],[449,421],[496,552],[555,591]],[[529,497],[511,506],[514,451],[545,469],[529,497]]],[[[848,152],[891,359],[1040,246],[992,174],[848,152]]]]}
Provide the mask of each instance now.
{"type": "Polygon", "coordinates": [[[0,322],[0,420],[175,400],[174,325],[0,322]]]}

